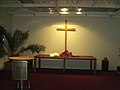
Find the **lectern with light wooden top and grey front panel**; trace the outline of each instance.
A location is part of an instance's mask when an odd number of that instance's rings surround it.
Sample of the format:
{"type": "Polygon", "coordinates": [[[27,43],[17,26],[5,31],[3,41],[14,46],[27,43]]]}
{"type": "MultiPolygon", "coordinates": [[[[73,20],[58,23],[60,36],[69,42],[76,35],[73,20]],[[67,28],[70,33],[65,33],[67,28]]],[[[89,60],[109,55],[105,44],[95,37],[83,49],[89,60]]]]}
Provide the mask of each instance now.
{"type": "MultiPolygon", "coordinates": [[[[27,70],[27,60],[33,60],[34,57],[30,56],[15,56],[9,57],[12,60],[12,77],[13,80],[18,80],[17,88],[20,90],[24,89],[23,81],[28,79],[28,70],[27,70]]],[[[28,82],[28,87],[30,88],[30,82],[28,82]]]]}

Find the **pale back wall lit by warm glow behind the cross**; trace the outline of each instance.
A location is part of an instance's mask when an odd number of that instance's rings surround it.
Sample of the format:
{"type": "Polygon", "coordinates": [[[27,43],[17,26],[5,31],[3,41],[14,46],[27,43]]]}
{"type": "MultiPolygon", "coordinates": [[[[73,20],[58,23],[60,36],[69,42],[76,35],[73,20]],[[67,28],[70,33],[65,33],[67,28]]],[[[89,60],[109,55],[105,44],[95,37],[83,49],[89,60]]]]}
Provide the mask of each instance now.
{"type": "MultiPolygon", "coordinates": [[[[103,57],[109,58],[110,70],[116,70],[120,65],[118,48],[120,47],[120,18],[111,17],[62,17],[62,16],[14,16],[12,30],[17,28],[30,30],[30,43],[46,45],[44,53],[64,51],[64,32],[56,31],[68,20],[69,27],[76,32],[68,32],[68,50],[75,55],[92,55],[101,69],[103,57]]],[[[44,62],[43,62],[44,63],[44,62]]],[[[49,62],[50,63],[50,62],[49,62]]],[[[48,63],[48,64],[49,64],[48,63]]],[[[55,63],[53,63],[54,65],[55,63]]],[[[77,62],[68,67],[86,67],[77,62]]]]}

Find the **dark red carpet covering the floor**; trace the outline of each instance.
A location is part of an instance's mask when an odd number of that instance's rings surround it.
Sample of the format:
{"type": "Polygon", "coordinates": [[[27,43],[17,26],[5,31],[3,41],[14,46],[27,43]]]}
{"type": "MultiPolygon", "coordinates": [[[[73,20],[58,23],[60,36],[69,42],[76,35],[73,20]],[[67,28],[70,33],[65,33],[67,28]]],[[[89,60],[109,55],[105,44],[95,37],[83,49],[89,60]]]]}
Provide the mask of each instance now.
{"type": "MultiPolygon", "coordinates": [[[[93,76],[89,71],[43,69],[36,73],[29,71],[29,81],[29,90],[120,90],[117,72],[98,71],[93,76]]],[[[0,72],[0,90],[17,90],[11,72],[0,72]]]]}

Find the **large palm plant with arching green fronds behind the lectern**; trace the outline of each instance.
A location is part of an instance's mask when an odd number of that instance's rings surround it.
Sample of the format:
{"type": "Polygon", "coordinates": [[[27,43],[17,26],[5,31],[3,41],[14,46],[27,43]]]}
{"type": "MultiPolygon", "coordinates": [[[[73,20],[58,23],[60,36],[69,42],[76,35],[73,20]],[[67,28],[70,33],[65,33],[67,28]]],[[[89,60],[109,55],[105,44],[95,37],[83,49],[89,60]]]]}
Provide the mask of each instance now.
{"type": "MultiPolygon", "coordinates": [[[[40,53],[44,52],[46,47],[38,43],[26,45],[29,37],[29,31],[15,30],[14,33],[8,32],[4,27],[0,26],[0,34],[4,36],[4,40],[0,40],[0,57],[3,56],[19,56],[24,52],[40,53]]],[[[10,60],[9,60],[10,61],[10,60]]]]}

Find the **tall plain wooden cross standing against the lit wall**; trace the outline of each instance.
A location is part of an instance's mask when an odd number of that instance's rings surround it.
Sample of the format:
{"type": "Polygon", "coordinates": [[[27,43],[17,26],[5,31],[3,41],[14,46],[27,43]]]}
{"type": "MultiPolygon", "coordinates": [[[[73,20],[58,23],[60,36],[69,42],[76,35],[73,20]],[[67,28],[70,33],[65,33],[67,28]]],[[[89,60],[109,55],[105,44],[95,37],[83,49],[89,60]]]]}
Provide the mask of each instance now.
{"type": "Polygon", "coordinates": [[[57,28],[57,31],[65,31],[65,50],[67,50],[67,31],[76,31],[75,28],[67,28],[67,20],[65,20],[65,28],[57,28]]]}

